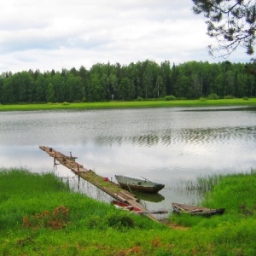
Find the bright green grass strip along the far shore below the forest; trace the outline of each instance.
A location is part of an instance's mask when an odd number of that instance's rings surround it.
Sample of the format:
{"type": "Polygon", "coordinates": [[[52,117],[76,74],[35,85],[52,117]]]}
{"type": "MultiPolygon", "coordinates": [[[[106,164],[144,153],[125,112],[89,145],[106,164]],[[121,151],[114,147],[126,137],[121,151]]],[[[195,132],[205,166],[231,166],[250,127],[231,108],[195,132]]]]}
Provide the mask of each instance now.
{"type": "Polygon", "coordinates": [[[174,107],[221,107],[254,106],[256,98],[220,99],[220,100],[180,100],[180,101],[138,101],[138,102],[80,102],[80,103],[45,103],[45,104],[0,104],[0,111],[29,111],[55,109],[104,109],[104,108],[174,108],[174,107]]]}

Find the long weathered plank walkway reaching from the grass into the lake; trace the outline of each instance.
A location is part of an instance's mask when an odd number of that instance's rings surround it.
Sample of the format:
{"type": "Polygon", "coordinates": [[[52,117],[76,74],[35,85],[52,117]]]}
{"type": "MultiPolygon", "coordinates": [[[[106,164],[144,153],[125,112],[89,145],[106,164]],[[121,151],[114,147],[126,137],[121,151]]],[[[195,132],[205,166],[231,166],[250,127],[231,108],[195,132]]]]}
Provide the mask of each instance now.
{"type": "Polygon", "coordinates": [[[158,221],[154,216],[148,213],[148,210],[144,208],[139,202],[135,195],[126,191],[125,189],[121,189],[117,183],[113,183],[106,178],[97,175],[95,172],[84,168],[84,166],[80,165],[75,161],[76,157],[72,155],[67,156],[65,154],[61,154],[58,151],[55,151],[53,148],[49,148],[46,146],[39,146],[45,153],[49,154],[49,156],[54,158],[54,163],[58,161],[61,165],[66,166],[73,173],[77,174],[79,177],[84,178],[84,180],[88,181],[95,185],[98,189],[102,189],[108,195],[111,195],[118,201],[128,202],[132,207],[139,208],[145,216],[148,218],[158,221]]]}

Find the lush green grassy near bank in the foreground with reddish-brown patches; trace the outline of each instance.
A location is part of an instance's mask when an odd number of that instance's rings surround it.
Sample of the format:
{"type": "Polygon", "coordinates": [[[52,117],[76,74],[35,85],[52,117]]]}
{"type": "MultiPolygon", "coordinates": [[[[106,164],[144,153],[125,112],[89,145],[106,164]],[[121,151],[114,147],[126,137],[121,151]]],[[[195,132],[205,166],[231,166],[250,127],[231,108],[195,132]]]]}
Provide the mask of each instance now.
{"type": "Polygon", "coordinates": [[[169,227],[73,193],[52,174],[1,170],[0,255],[255,255],[255,195],[255,174],[220,177],[202,204],[225,207],[223,216],[171,215],[169,227]]]}

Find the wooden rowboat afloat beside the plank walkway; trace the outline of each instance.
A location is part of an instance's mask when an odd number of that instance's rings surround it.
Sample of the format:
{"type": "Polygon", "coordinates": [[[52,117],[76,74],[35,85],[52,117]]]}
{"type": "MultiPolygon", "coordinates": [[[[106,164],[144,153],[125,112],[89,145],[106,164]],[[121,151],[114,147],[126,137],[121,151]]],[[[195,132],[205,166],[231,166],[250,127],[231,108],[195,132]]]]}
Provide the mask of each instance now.
{"type": "Polygon", "coordinates": [[[137,190],[142,192],[157,193],[158,191],[160,191],[160,189],[163,189],[165,187],[164,184],[153,183],[145,178],[143,180],[122,175],[116,175],[115,178],[123,189],[127,189],[130,191],[137,190]]]}

